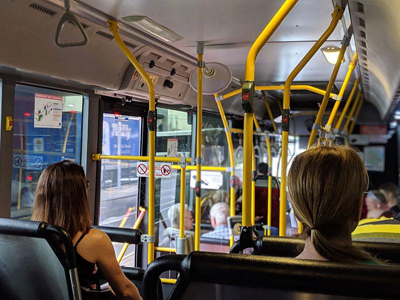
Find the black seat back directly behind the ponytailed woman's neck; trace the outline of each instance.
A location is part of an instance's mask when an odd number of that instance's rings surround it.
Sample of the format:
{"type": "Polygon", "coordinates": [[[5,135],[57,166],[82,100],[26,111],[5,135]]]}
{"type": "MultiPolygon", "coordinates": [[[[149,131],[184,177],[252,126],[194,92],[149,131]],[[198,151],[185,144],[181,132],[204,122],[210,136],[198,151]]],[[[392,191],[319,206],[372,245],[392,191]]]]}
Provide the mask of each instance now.
{"type": "MultiPolygon", "coordinates": [[[[297,237],[263,236],[260,255],[295,257],[304,248],[304,240],[297,237]]],[[[376,257],[393,263],[400,263],[400,244],[392,242],[353,241],[376,257]]]]}

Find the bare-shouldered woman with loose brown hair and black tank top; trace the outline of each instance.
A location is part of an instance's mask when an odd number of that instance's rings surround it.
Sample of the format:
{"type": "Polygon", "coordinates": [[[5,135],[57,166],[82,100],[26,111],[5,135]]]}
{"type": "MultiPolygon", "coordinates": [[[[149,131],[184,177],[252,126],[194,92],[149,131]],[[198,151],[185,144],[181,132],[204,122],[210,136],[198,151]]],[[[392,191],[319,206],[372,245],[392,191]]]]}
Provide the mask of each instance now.
{"type": "Polygon", "coordinates": [[[107,234],[90,228],[88,182],[83,168],[69,160],[50,164],[37,182],[32,220],[45,221],[65,229],[75,249],[83,299],[93,293],[118,299],[141,299],[134,284],[125,277],[115,258],[107,234]],[[110,289],[100,290],[100,274],[110,289]]]}

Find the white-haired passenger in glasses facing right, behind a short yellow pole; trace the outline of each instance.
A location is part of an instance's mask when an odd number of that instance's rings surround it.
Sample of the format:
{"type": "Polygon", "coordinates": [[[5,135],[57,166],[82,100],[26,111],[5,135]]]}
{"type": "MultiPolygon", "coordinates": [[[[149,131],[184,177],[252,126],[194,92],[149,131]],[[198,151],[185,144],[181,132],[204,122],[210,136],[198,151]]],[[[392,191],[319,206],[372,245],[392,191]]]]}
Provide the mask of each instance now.
{"type": "MultiPolygon", "coordinates": [[[[191,239],[191,236],[194,235],[194,231],[192,231],[194,218],[191,214],[191,211],[188,209],[187,204],[185,204],[184,207],[184,232],[185,235],[191,239]]],[[[169,207],[167,215],[171,225],[166,227],[163,232],[160,232],[161,235],[158,246],[174,248],[174,239],[176,236],[179,236],[180,203],[176,203],[169,207]]],[[[194,241],[192,240],[192,242],[194,241]]],[[[189,249],[190,248],[191,247],[189,245],[189,249]]]]}

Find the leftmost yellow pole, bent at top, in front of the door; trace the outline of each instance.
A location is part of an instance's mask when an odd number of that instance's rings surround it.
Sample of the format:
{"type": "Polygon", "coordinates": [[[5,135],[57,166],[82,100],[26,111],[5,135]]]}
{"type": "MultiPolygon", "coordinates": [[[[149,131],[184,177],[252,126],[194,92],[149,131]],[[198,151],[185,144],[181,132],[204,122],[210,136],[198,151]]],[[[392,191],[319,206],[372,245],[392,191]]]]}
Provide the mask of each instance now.
{"type": "Polygon", "coordinates": [[[146,82],[148,87],[148,113],[147,113],[147,128],[148,128],[148,246],[147,246],[147,262],[154,260],[154,156],[155,156],[155,96],[154,85],[146,71],[142,68],[136,58],[130,53],[128,47],[123,43],[119,36],[118,23],[114,20],[108,20],[107,25],[112,32],[116,43],[123,51],[129,61],[133,64],[137,72],[146,82]]]}

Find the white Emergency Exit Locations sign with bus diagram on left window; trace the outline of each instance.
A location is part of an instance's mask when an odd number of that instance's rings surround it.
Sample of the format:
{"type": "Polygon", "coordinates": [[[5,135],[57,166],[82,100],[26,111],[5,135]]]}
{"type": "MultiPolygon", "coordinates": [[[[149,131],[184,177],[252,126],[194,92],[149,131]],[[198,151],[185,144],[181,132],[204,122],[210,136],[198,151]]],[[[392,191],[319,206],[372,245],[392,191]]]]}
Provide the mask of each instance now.
{"type": "Polygon", "coordinates": [[[61,128],[62,96],[34,94],[35,128],[61,128]]]}

